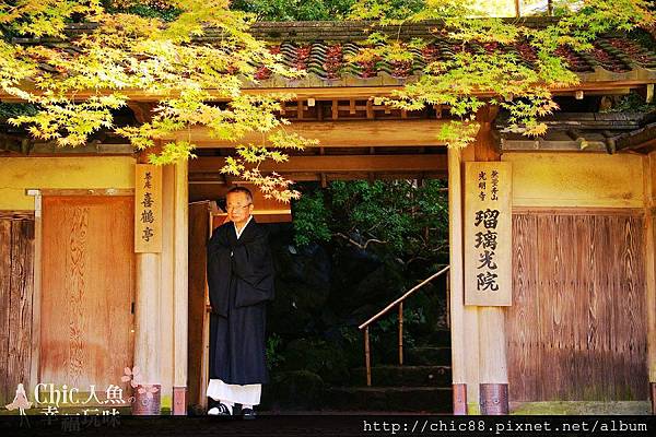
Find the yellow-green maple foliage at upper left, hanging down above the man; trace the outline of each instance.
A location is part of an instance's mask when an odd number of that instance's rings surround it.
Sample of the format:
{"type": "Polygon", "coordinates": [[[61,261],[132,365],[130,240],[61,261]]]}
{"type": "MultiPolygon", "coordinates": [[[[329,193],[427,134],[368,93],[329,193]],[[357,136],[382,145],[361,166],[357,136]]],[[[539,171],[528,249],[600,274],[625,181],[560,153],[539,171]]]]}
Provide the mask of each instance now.
{"type": "Polygon", "coordinates": [[[147,1],[168,8],[171,14],[133,13],[139,2],[118,0],[105,10],[99,0],[23,0],[0,5],[0,87],[36,108],[13,117],[42,140],[60,146],[79,146],[101,129],[114,130],[139,151],[151,153],[155,164],[192,157],[191,130],[209,130],[211,137],[238,141],[257,132],[262,143],[241,150],[234,160],[235,176],[262,187],[267,196],[289,201],[289,181],[263,175],[262,160],[282,162],[283,149],[303,149],[312,142],[277,131],[280,102],[290,95],[246,95],[242,88],[256,81],[262,66],[273,74],[298,78],[279,55],[249,33],[253,15],[229,9],[229,0],[147,1]],[[83,32],[67,27],[79,22],[83,32]],[[212,33],[211,44],[202,39],[212,33]],[[20,45],[12,37],[30,40],[20,45]],[[43,42],[38,37],[57,39],[43,42]],[[114,111],[133,92],[156,104],[145,122],[114,126],[114,111]],[[270,143],[267,135],[276,131],[270,143]],[[175,139],[174,141],[169,141],[175,139]],[[269,151],[266,146],[271,147],[269,151]],[[243,163],[254,165],[243,165],[243,163]],[[280,191],[280,192],[279,192],[280,191]]]}

